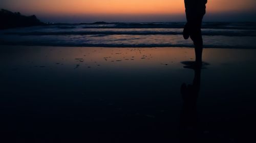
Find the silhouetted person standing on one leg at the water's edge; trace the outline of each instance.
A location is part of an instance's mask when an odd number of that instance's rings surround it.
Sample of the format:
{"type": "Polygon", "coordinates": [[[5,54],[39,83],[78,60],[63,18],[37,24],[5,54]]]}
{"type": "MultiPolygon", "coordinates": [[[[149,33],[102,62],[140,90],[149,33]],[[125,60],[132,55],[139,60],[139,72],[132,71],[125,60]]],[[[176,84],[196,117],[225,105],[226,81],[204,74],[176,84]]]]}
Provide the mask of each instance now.
{"type": "Polygon", "coordinates": [[[196,64],[202,63],[203,39],[201,25],[205,14],[207,0],[184,0],[187,23],[184,27],[183,37],[193,40],[196,53],[196,64]]]}

